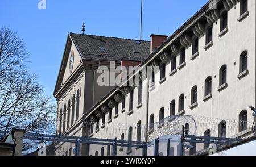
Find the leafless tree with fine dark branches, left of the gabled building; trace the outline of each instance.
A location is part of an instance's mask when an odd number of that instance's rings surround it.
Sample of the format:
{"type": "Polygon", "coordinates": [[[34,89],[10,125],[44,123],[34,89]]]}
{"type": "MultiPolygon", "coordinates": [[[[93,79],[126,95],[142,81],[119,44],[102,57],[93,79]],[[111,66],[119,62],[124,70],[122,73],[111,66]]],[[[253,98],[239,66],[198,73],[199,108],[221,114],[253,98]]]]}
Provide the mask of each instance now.
{"type": "Polygon", "coordinates": [[[10,28],[0,29],[0,130],[23,128],[53,132],[55,105],[26,68],[23,40],[10,28]]]}

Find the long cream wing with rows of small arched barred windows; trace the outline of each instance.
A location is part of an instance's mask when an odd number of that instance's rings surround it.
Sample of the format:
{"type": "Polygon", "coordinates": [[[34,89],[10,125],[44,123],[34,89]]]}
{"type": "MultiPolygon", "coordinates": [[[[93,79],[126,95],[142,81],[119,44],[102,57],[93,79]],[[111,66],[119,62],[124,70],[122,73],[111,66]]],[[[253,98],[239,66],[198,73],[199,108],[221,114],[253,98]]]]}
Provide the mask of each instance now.
{"type": "MultiPolygon", "coordinates": [[[[252,135],[253,117],[247,107],[256,105],[255,15],[253,0],[214,0],[171,36],[152,35],[150,52],[127,82],[144,68],[157,66],[158,70],[144,75],[139,85],[127,86],[122,82],[96,97],[88,97],[86,82],[92,80],[86,81],[85,70],[81,85],[85,90],[75,88],[75,91],[84,93],[91,105],[84,107],[88,110],[83,110],[82,119],[76,123],[83,124],[84,131],[75,133],[78,130],[74,126],[72,134],[148,142],[160,135],[180,135],[181,124],[189,122],[190,132],[200,136],[252,135]]],[[[57,85],[60,83],[58,80],[57,85]]],[[[62,90],[68,94],[65,85],[62,90]]],[[[101,89],[105,88],[94,90],[101,89]]],[[[55,97],[58,102],[64,100],[58,99],[57,94],[55,97]]],[[[59,106],[59,113],[70,108],[68,98],[59,104],[63,105],[59,106]]],[[[63,125],[60,120],[65,119],[59,119],[58,124],[63,125]]],[[[204,147],[194,145],[184,153],[192,155],[204,147]]],[[[63,148],[62,152],[68,154],[69,148],[63,148]]],[[[110,147],[92,144],[84,146],[82,151],[84,155],[112,154],[110,147]]],[[[142,155],[142,150],[118,147],[117,155],[142,155]]]]}

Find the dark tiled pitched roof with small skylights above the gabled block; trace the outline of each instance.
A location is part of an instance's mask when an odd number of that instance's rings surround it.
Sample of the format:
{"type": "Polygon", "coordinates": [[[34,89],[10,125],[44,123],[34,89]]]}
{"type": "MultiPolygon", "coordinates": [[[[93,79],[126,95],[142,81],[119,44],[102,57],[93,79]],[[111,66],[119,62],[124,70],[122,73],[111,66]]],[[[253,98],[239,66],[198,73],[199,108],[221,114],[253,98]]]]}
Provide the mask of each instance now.
{"type": "Polygon", "coordinates": [[[150,55],[150,41],[70,33],[83,59],[143,61],[150,55]]]}

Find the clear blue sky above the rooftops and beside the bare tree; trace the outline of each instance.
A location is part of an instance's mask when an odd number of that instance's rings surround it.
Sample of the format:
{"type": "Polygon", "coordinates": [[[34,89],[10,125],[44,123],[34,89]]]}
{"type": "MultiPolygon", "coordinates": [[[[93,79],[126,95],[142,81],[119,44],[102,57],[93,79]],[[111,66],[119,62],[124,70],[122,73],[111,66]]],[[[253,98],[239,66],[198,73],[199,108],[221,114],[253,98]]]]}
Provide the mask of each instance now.
{"type": "MultiPolygon", "coordinates": [[[[18,32],[30,53],[28,68],[39,76],[47,95],[52,95],[68,31],[139,39],[141,0],[1,0],[0,27],[18,32]]],[[[151,34],[170,36],[208,0],[143,0],[142,39],[151,34]]]]}

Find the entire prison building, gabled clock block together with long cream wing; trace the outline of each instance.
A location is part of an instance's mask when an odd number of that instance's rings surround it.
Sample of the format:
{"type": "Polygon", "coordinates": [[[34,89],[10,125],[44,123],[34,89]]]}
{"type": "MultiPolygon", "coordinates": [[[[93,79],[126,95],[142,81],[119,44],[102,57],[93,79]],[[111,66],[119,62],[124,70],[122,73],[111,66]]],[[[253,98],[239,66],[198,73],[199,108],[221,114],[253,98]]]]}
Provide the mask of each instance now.
{"type": "MultiPolygon", "coordinates": [[[[196,135],[251,135],[247,107],[256,105],[255,5],[252,0],[209,1],[171,36],[151,35],[150,42],[139,44],[118,39],[101,49],[102,41],[114,39],[69,34],[55,88],[57,133],[149,142],[180,134],[181,123],[192,122],[196,135]],[[127,82],[143,68],[159,68],[135,86],[98,86],[98,66],[122,60],[139,65],[127,82]]],[[[59,144],[56,155],[68,155],[71,148],[59,144]]],[[[81,152],[111,155],[112,148],[90,144],[81,152]]],[[[142,150],[119,147],[117,155],[142,155],[142,150]]]]}

